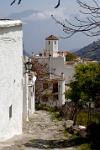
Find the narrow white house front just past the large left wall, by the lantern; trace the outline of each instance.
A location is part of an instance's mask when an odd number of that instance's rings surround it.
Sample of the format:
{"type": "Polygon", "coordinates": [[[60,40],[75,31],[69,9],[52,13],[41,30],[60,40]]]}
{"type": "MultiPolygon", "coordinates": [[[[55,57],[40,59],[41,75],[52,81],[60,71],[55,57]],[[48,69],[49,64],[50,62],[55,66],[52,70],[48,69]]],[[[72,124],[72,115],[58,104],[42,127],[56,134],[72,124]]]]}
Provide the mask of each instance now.
{"type": "MultiPolygon", "coordinates": [[[[28,62],[29,57],[24,56],[24,65],[28,62]]],[[[24,83],[23,83],[23,119],[29,121],[29,118],[35,112],[35,73],[25,70],[24,66],[24,83]]]]}

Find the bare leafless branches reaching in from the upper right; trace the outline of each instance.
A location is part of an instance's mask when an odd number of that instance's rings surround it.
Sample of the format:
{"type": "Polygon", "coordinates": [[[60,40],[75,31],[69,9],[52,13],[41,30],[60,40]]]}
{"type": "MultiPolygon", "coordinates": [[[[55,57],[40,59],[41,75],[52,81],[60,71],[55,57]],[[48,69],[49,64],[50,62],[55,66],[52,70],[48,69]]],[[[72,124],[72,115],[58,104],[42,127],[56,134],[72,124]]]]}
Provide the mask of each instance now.
{"type": "Polygon", "coordinates": [[[65,19],[65,22],[61,22],[56,19],[55,16],[51,16],[56,23],[63,27],[63,31],[67,34],[65,38],[69,38],[72,35],[82,32],[87,36],[98,36],[100,35],[100,6],[96,0],[92,0],[93,4],[87,4],[81,0],[77,0],[81,10],[80,13],[86,16],[86,19],[81,20],[75,17],[75,22],[70,22],[65,19]]]}

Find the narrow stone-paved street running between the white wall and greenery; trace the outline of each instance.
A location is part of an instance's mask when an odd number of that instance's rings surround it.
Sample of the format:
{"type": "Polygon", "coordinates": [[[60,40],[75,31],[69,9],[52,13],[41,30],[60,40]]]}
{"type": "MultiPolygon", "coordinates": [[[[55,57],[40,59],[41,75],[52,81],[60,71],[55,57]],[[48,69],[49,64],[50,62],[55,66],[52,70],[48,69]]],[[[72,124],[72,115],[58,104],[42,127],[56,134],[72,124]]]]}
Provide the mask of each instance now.
{"type": "Polygon", "coordinates": [[[64,136],[62,121],[54,121],[46,111],[36,111],[24,123],[23,135],[0,143],[0,150],[75,150],[64,136]]]}

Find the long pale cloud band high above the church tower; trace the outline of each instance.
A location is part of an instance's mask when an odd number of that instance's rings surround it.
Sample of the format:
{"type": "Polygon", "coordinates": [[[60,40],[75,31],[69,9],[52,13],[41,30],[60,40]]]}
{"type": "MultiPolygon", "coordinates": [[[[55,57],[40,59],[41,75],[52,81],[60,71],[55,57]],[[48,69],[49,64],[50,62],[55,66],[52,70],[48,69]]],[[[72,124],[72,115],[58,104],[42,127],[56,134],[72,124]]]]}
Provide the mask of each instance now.
{"type": "Polygon", "coordinates": [[[66,18],[70,20],[73,16],[77,15],[78,9],[71,4],[71,7],[64,6],[57,9],[49,10],[25,10],[22,12],[10,14],[11,19],[21,19],[22,21],[42,21],[51,18],[54,15],[57,19],[65,20],[66,18]]]}

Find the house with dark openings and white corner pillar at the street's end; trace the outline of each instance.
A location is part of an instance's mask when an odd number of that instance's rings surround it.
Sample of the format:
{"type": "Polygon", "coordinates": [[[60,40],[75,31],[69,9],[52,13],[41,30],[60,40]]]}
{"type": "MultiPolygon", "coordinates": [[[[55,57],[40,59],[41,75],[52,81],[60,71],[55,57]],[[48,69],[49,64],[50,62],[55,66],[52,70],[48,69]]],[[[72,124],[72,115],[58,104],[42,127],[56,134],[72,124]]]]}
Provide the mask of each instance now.
{"type": "Polygon", "coordinates": [[[49,107],[60,108],[65,104],[65,79],[61,76],[51,74],[48,79],[39,82],[39,102],[49,107]]]}

